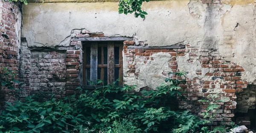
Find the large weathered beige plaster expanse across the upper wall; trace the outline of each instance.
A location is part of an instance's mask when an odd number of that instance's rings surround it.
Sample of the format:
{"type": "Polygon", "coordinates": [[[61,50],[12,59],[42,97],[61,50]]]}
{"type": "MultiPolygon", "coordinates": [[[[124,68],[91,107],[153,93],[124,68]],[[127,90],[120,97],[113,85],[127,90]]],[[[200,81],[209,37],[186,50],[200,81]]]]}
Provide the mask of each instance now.
{"type": "MultiPolygon", "coordinates": [[[[225,60],[244,67],[244,80],[256,79],[254,0],[221,0],[222,4],[210,5],[201,0],[150,1],[143,6],[148,13],[145,20],[118,14],[116,2],[79,2],[23,6],[22,37],[29,46],[55,46],[70,36],[71,30],[85,28],[105,36],[134,36],[148,46],[189,44],[198,49],[212,48],[225,60]]],[[[178,66],[186,69],[184,65],[201,67],[187,61],[178,66]]]]}

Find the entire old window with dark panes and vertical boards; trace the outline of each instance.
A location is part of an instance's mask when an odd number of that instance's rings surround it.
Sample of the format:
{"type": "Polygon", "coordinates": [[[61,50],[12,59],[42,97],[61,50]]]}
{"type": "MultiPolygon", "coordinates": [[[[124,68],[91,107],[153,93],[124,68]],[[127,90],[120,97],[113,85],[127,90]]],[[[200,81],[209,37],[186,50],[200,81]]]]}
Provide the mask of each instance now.
{"type": "Polygon", "coordinates": [[[83,84],[102,80],[97,85],[107,85],[117,79],[122,86],[122,42],[84,42],[83,84]]]}

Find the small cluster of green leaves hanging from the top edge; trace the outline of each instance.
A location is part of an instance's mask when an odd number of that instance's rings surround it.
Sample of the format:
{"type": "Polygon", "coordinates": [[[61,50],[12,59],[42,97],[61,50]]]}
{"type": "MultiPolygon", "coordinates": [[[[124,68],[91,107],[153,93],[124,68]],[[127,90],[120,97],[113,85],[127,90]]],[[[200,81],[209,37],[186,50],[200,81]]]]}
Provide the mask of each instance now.
{"type": "Polygon", "coordinates": [[[141,5],[144,1],[149,2],[149,0],[120,0],[118,12],[119,14],[125,15],[134,13],[134,17],[140,16],[141,18],[145,18],[147,13],[141,9],[141,5]]]}

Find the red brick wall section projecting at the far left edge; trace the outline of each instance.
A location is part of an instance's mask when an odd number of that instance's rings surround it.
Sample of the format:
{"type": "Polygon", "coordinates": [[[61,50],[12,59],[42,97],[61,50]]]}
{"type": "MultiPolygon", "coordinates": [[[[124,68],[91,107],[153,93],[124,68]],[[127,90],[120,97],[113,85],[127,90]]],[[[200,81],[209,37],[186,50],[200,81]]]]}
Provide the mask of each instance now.
{"type": "MultiPolygon", "coordinates": [[[[19,69],[19,32],[21,25],[20,3],[10,3],[0,0],[0,73],[3,67],[14,70],[19,69]]],[[[18,75],[17,75],[18,78],[18,75]]],[[[15,86],[17,87],[17,86],[15,86]]],[[[5,105],[4,101],[13,101],[8,90],[0,87],[0,110],[5,105]]]]}

